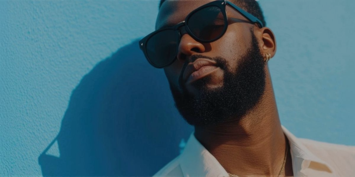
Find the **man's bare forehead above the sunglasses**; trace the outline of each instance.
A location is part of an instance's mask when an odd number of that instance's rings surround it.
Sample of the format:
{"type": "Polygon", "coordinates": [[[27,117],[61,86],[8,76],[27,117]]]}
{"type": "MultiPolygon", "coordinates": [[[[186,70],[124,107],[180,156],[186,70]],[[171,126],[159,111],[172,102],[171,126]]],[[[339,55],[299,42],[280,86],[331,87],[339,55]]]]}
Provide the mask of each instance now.
{"type": "Polygon", "coordinates": [[[182,22],[191,11],[212,1],[214,0],[166,0],[159,9],[155,28],[182,22]]]}

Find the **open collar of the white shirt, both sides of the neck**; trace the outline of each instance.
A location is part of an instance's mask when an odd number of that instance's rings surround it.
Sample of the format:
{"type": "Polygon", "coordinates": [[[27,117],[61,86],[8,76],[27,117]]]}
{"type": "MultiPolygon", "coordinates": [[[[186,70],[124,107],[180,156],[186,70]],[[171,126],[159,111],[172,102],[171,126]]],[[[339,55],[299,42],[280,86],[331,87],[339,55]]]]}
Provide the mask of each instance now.
{"type": "MultiPolygon", "coordinates": [[[[312,166],[316,166],[321,170],[328,172],[333,171],[326,162],[320,160],[317,156],[311,153],[305,145],[299,142],[299,140],[284,126],[282,126],[282,129],[289,140],[294,176],[304,176],[302,170],[310,167],[312,163],[312,166]]],[[[229,176],[217,159],[196,139],[194,132],[190,135],[180,159],[180,167],[184,177],[229,176]]]]}

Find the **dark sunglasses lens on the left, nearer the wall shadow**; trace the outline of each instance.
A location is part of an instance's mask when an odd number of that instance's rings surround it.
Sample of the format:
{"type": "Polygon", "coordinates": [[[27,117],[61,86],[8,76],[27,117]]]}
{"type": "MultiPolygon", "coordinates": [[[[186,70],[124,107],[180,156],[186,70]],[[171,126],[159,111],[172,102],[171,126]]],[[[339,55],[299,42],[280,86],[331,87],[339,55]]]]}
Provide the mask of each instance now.
{"type": "Polygon", "coordinates": [[[163,30],[147,41],[147,55],[157,67],[163,67],[174,60],[178,47],[179,35],[176,30],[163,30]]]}

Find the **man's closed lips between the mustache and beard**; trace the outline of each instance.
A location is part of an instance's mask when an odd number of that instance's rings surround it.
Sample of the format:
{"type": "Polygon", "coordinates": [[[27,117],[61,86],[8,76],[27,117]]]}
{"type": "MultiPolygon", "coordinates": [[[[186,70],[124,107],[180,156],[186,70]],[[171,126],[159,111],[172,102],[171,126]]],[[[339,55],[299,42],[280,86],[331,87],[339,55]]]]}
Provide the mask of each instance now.
{"type": "Polygon", "coordinates": [[[193,63],[187,64],[182,75],[184,81],[193,82],[211,74],[215,69],[218,68],[216,64],[216,62],[206,58],[196,59],[193,63]]]}

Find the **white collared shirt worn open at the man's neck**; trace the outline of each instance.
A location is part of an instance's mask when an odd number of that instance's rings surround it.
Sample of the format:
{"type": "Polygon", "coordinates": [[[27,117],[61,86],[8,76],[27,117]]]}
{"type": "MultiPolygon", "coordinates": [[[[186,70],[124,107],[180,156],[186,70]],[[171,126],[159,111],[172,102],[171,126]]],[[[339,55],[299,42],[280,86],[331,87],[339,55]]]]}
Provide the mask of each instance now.
{"type": "MultiPolygon", "coordinates": [[[[293,174],[309,177],[355,177],[355,147],[297,138],[282,126],[289,140],[293,174]]],[[[154,176],[228,177],[216,158],[191,134],[184,152],[154,176]]]]}

